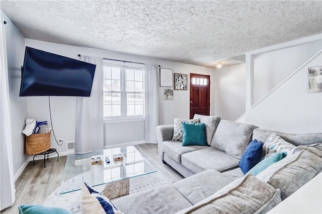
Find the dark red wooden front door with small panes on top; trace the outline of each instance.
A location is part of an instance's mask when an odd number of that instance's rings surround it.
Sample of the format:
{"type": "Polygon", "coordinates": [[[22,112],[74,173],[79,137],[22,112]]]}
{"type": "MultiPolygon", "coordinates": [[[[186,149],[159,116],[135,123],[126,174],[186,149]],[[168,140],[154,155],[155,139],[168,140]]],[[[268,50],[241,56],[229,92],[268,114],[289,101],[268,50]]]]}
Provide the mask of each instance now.
{"type": "Polygon", "coordinates": [[[190,119],[210,114],[210,76],[190,74],[190,119]]]}

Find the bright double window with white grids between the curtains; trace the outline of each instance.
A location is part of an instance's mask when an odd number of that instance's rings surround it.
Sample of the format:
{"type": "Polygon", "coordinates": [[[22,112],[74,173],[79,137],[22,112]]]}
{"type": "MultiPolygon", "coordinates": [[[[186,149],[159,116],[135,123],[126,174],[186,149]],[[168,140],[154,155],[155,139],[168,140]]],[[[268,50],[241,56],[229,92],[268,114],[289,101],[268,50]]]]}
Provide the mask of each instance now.
{"type": "Polygon", "coordinates": [[[105,119],[144,117],[144,68],[104,64],[105,119]]]}

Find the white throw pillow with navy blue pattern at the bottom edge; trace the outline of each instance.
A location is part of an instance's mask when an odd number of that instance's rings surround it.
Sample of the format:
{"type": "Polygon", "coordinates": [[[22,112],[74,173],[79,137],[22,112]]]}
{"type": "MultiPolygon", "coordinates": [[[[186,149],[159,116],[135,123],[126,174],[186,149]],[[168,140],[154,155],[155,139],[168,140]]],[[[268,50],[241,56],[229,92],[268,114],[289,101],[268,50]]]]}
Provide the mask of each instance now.
{"type": "Polygon", "coordinates": [[[107,197],[85,182],[82,185],[81,197],[83,213],[122,214],[107,197]]]}

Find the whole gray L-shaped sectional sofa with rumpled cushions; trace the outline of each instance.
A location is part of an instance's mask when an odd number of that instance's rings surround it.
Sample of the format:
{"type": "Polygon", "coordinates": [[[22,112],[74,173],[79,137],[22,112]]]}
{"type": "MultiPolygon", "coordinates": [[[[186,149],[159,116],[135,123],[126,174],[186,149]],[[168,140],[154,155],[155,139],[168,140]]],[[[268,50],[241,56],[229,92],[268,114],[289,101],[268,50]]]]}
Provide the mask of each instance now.
{"type": "Polygon", "coordinates": [[[186,178],[116,198],[124,213],[266,213],[322,170],[322,133],[294,135],[195,115],[205,123],[208,146],[173,141],[173,126],[156,128],[159,156],[186,178]],[[238,167],[253,139],[276,133],[297,146],[257,176],[238,167]]]}

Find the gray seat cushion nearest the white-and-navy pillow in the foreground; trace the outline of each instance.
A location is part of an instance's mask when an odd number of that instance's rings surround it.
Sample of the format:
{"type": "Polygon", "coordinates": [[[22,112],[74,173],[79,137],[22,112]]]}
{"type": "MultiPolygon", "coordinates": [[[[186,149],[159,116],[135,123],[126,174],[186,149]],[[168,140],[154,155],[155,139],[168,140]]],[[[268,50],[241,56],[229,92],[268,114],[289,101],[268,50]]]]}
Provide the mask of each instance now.
{"type": "Polygon", "coordinates": [[[192,204],[171,184],[164,184],[113,200],[124,213],[175,213],[192,204]]]}

